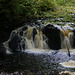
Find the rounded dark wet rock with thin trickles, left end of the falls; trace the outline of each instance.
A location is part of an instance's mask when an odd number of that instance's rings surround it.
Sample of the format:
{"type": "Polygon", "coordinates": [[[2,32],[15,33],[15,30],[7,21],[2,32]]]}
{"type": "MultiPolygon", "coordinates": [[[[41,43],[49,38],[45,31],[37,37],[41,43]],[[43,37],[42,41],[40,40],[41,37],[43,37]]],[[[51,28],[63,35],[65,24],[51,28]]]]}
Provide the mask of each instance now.
{"type": "Polygon", "coordinates": [[[8,45],[12,52],[21,51],[25,49],[25,39],[17,33],[13,33],[8,41],[8,45]]]}

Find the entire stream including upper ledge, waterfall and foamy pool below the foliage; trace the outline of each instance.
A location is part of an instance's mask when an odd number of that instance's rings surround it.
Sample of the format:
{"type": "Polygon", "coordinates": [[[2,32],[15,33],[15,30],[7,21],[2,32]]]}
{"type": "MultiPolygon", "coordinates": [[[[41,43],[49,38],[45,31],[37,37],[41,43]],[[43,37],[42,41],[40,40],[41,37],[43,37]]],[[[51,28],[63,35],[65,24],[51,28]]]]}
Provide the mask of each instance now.
{"type": "MultiPolygon", "coordinates": [[[[0,75],[4,75],[4,72],[18,71],[19,73],[25,70],[38,72],[38,75],[45,75],[42,74],[43,72],[47,73],[46,75],[56,75],[55,73],[62,71],[75,72],[75,23],[63,22],[63,18],[49,21],[37,20],[29,23],[30,26],[25,25],[12,31],[9,39],[3,43],[6,55],[3,60],[0,60],[0,75]],[[63,32],[63,29],[70,30],[70,34],[63,32]],[[70,56],[65,40],[67,40],[70,56]],[[68,63],[69,61],[72,62],[68,63]],[[64,62],[68,65],[64,65],[64,62]]],[[[15,75],[19,75],[18,73],[15,75]]]]}

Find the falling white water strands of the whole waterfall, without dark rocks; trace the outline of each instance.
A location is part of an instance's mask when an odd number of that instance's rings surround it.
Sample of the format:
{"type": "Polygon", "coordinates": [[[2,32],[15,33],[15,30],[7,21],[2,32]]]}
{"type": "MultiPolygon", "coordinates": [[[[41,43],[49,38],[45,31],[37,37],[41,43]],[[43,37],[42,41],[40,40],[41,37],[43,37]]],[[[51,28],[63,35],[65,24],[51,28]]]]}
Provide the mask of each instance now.
{"type": "MultiPolygon", "coordinates": [[[[68,46],[69,49],[72,49],[74,33],[69,32],[69,31],[67,33],[66,31],[64,31],[65,29],[63,30],[60,26],[57,26],[57,25],[54,25],[54,27],[57,27],[58,29],[60,29],[61,49],[67,49],[67,46],[68,46]],[[65,32],[67,33],[67,36],[66,36],[65,32]],[[66,45],[66,42],[67,42],[67,45],[66,45]]],[[[33,50],[33,49],[44,49],[44,50],[49,49],[48,44],[46,43],[47,37],[42,33],[41,30],[39,30],[39,28],[37,28],[36,26],[28,27],[27,30],[23,31],[23,35],[21,36],[19,33],[20,33],[20,31],[22,31],[22,28],[23,27],[12,31],[9,40],[4,43],[7,50],[10,50],[8,42],[16,34],[18,34],[18,37],[22,38],[21,42],[20,42],[20,47],[18,45],[18,51],[19,50],[24,51],[24,49],[22,47],[23,43],[25,43],[25,49],[30,49],[30,50],[33,50]],[[35,28],[36,31],[37,31],[37,34],[35,35],[34,40],[33,40],[33,28],[35,28]],[[44,39],[44,37],[46,39],[44,39]]]]}

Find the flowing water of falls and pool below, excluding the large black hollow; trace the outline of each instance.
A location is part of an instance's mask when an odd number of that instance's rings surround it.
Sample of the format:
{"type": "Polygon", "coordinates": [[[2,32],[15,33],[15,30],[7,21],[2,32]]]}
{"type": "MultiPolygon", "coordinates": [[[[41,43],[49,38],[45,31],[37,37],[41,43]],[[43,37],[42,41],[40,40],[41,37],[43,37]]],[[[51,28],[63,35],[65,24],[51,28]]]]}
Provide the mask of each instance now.
{"type": "Polygon", "coordinates": [[[59,72],[65,70],[74,71],[75,50],[73,49],[73,41],[75,36],[72,31],[74,28],[54,24],[54,28],[60,30],[61,48],[52,50],[48,44],[51,39],[42,31],[45,26],[46,24],[42,25],[41,28],[38,25],[23,26],[12,31],[9,40],[4,42],[8,55],[3,63],[0,62],[4,64],[3,68],[7,71],[14,70],[14,68],[15,70],[35,68],[50,72],[55,69],[59,72]]]}

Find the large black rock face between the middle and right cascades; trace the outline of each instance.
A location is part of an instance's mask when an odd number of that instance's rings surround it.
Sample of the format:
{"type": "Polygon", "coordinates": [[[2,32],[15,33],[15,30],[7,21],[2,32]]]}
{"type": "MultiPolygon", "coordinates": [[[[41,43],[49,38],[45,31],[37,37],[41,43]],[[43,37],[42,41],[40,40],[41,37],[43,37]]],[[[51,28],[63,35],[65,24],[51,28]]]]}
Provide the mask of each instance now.
{"type": "Polygon", "coordinates": [[[48,38],[47,43],[50,49],[58,50],[61,48],[60,30],[57,27],[49,24],[44,27],[43,33],[48,38]]]}

